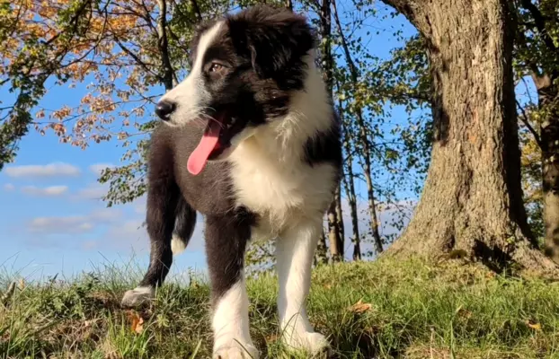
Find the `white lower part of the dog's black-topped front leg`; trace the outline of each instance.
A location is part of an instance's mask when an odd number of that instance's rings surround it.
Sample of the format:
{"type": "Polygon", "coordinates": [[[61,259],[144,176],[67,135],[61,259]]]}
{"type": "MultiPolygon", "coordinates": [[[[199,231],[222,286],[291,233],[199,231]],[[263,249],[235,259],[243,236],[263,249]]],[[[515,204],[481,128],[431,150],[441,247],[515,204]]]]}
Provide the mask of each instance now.
{"type": "Polygon", "coordinates": [[[212,328],[214,358],[258,357],[258,351],[249,333],[248,295],[243,278],[218,299],[212,328]]]}

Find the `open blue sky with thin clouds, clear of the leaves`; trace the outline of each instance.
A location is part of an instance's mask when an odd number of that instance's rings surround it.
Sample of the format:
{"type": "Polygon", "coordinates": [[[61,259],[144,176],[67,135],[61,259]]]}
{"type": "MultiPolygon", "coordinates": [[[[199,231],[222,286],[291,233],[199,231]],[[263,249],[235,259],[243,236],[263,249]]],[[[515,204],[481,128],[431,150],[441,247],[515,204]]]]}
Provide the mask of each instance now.
{"type": "MultiPolygon", "coordinates": [[[[371,31],[371,40],[364,42],[375,55],[386,57],[399,45],[391,36],[392,29],[402,24],[407,35],[414,32],[402,17],[369,22],[370,27],[359,32],[371,31]]],[[[75,89],[49,85],[40,106],[76,105],[85,91],[84,84],[75,89]]],[[[0,89],[4,101],[12,96],[0,89]]],[[[407,115],[396,111],[395,116],[407,115]]],[[[145,269],[149,256],[149,241],[141,227],[145,198],[111,208],[100,200],[107,188],[97,182],[99,171],[120,164],[122,154],[116,142],[81,150],[60,144],[53,134],[40,136],[31,129],[21,142],[16,162],[0,172],[0,267],[33,279],[60,273],[72,276],[108,263],[125,265],[130,258],[145,269]]],[[[345,222],[349,232],[350,222],[345,222]]],[[[364,216],[363,226],[366,223],[364,216]]],[[[347,247],[350,253],[350,243],[347,247]]],[[[189,248],[175,258],[172,276],[189,268],[203,271],[205,266],[199,225],[189,248]]]]}

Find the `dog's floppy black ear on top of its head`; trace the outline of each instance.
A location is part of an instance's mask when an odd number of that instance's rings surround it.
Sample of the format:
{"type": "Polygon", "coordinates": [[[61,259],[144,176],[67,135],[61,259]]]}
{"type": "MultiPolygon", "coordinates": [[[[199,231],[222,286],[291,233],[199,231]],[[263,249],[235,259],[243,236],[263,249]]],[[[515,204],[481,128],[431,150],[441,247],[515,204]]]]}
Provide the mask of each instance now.
{"type": "Polygon", "coordinates": [[[304,16],[288,9],[258,5],[228,19],[237,53],[251,60],[262,77],[297,65],[315,47],[315,34],[304,16]]]}

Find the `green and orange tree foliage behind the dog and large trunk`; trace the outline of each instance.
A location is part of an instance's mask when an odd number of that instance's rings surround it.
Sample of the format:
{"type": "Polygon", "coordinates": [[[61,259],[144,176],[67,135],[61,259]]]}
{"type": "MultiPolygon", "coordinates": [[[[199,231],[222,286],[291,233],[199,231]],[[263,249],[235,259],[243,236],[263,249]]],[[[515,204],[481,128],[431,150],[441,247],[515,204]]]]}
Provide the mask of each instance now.
{"type": "MultiPolygon", "coordinates": [[[[148,138],[157,126],[152,109],[164,91],[188,74],[193,30],[200,21],[258,2],[3,2],[0,86],[13,93],[13,103],[0,104],[0,170],[13,161],[19,140],[30,128],[44,135],[55,134],[62,143],[83,149],[111,142],[121,148],[121,163],[102,171],[99,179],[110,185],[104,198],[107,206],[142,197],[146,192],[148,138]],[[50,109],[41,101],[48,83],[83,88],[84,96],[76,105],[50,109]]],[[[268,3],[290,4],[296,11],[305,12],[315,28],[320,28],[319,2],[268,3]]],[[[519,83],[536,70],[538,75],[557,72],[559,51],[550,51],[550,41],[555,48],[559,44],[557,3],[513,2],[518,17],[515,66],[519,83]],[[545,31],[529,4],[536,6],[546,20],[545,31]]],[[[375,208],[392,214],[387,222],[380,223],[382,241],[386,244],[394,241],[408,221],[410,207],[421,193],[430,165],[432,121],[426,46],[416,33],[404,36],[399,28],[379,28],[378,23],[394,20],[398,14],[377,3],[344,1],[337,7],[335,2],[330,4],[335,10],[330,18],[332,35],[320,39],[319,55],[323,55],[326,45],[332,48],[333,96],[342,114],[343,134],[348,143],[344,158],[351,161],[351,166],[345,163],[344,181],[353,181],[358,192],[356,199],[362,201],[359,188],[366,182],[364,159],[370,156],[375,208]],[[386,39],[402,46],[392,48],[387,57],[380,57],[369,43],[375,31],[382,31],[386,39]],[[345,56],[344,46],[350,57],[345,56]],[[353,68],[348,58],[354,63],[353,68]],[[359,118],[366,127],[365,136],[359,136],[359,118]],[[386,228],[393,230],[382,232],[386,228]]],[[[319,65],[323,63],[319,61],[319,65]]],[[[525,114],[521,116],[525,121],[520,129],[524,189],[530,223],[539,235],[541,170],[534,134],[544,115],[537,108],[537,101],[519,103],[519,112],[525,114]]],[[[344,195],[351,197],[350,193],[344,195]]],[[[360,211],[357,215],[361,215],[360,211]]],[[[361,241],[371,241],[372,227],[368,223],[367,230],[360,232],[361,241]]],[[[269,263],[272,257],[271,248],[253,247],[248,261],[269,263]]]]}

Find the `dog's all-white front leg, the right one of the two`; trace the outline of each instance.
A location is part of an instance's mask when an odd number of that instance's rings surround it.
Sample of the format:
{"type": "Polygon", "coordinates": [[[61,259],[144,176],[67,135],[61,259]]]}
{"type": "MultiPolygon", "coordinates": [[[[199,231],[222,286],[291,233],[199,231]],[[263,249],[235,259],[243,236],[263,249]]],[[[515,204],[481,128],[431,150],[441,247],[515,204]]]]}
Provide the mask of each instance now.
{"type": "Polygon", "coordinates": [[[299,223],[283,232],[276,242],[281,337],[288,347],[304,349],[313,355],[329,347],[326,338],[315,332],[306,316],[306,296],[321,230],[320,221],[299,223]]]}

